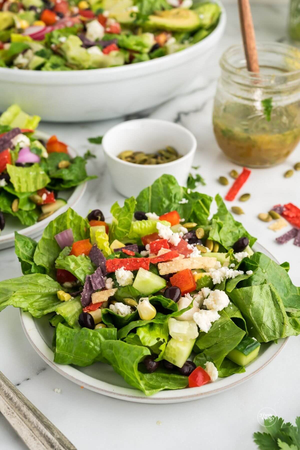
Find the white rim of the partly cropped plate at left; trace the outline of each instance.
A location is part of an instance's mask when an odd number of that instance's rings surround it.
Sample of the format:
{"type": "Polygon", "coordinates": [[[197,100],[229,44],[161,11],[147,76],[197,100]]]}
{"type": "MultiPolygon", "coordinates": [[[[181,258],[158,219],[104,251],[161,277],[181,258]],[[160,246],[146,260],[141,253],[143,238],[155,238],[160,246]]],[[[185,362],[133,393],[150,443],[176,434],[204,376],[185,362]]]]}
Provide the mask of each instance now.
{"type": "MultiPolygon", "coordinates": [[[[49,139],[49,137],[50,137],[50,135],[48,133],[44,133],[43,131],[36,131],[35,135],[40,137],[40,139],[49,139]]],[[[72,158],[75,158],[76,156],[78,156],[76,150],[74,150],[74,148],[70,147],[69,145],[68,145],[68,153],[70,154],[70,156],[72,158]]],[[[67,200],[67,203],[65,206],[59,208],[57,211],[55,211],[53,214],[51,214],[51,216],[47,217],[46,219],[41,220],[40,222],[36,222],[34,225],[20,229],[18,231],[18,233],[22,234],[23,236],[30,236],[33,233],[38,233],[39,231],[43,230],[45,228],[45,226],[48,225],[49,222],[51,222],[51,220],[54,220],[60,214],[67,211],[68,208],[74,207],[76,205],[76,203],[78,203],[81,200],[81,197],[85,193],[86,184],[87,184],[87,182],[85,181],[85,183],[82,183],[82,184],[79,184],[78,186],[76,186],[76,188],[74,189],[74,192],[72,193],[71,197],[67,200]]],[[[14,240],[14,232],[9,233],[9,234],[4,234],[3,236],[0,235],[0,248],[2,245],[7,244],[13,240],[14,240]]],[[[6,247],[6,248],[8,248],[8,247],[6,247]]]]}

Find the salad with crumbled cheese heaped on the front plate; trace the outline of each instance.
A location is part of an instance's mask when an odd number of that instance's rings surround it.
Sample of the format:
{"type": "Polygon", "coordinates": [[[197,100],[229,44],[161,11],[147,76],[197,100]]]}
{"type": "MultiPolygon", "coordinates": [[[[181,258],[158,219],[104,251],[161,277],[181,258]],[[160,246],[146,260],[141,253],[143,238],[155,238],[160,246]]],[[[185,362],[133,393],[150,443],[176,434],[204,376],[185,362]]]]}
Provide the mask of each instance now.
{"type": "Polygon", "coordinates": [[[55,363],[109,364],[147,396],[245,372],[300,333],[300,290],[212,202],[163,175],[114,203],[110,223],[68,209],[38,243],[16,233],[24,275],[0,282],[0,310],[49,315],[55,363]]]}

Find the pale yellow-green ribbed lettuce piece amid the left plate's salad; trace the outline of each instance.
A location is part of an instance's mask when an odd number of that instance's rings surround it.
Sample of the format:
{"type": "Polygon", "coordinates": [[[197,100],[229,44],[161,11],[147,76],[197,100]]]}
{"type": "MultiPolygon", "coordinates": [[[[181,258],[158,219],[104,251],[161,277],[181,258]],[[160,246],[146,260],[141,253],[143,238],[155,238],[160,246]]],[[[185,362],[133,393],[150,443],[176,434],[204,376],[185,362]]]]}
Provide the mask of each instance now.
{"type": "Polygon", "coordinates": [[[45,188],[50,178],[39,164],[33,164],[30,167],[18,167],[11,164],[6,165],[16,192],[35,192],[38,189],[45,188]]]}

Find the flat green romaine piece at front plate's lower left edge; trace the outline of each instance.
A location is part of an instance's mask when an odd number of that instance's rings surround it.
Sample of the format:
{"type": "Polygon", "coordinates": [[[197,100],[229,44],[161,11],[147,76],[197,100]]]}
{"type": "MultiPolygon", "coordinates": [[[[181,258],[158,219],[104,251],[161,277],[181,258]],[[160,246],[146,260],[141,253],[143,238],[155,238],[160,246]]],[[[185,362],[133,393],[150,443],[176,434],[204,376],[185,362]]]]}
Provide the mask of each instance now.
{"type": "Polygon", "coordinates": [[[115,328],[72,329],[63,324],[56,328],[54,362],[85,367],[101,360],[103,343],[116,339],[115,328]]]}

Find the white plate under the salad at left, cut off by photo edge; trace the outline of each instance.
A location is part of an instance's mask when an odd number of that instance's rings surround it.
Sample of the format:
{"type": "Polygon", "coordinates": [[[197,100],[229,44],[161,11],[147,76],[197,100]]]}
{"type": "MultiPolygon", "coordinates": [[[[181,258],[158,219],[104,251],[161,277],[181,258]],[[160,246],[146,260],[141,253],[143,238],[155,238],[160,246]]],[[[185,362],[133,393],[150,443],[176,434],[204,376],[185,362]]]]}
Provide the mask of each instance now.
{"type": "MultiPolygon", "coordinates": [[[[50,135],[48,135],[47,133],[43,133],[41,131],[36,131],[35,135],[39,139],[45,140],[48,140],[50,137],[50,135]]],[[[68,153],[72,158],[78,156],[74,148],[71,148],[69,146],[68,146],[68,153]]],[[[85,189],[86,189],[86,182],[79,184],[79,186],[76,186],[76,188],[74,189],[70,189],[67,191],[59,191],[59,198],[64,198],[65,200],[67,200],[66,205],[58,209],[58,211],[55,211],[53,214],[51,214],[51,216],[47,217],[46,219],[41,220],[40,222],[36,222],[36,224],[28,226],[26,228],[24,228],[24,225],[21,224],[21,222],[18,220],[17,217],[5,214],[5,227],[0,234],[0,250],[14,246],[15,231],[18,231],[18,233],[23,234],[24,236],[29,236],[31,238],[36,238],[37,236],[42,234],[46,225],[48,225],[49,222],[51,222],[51,220],[54,220],[55,217],[67,211],[69,207],[71,208],[75,207],[75,205],[79,202],[79,200],[83,196],[85,189]]]]}

